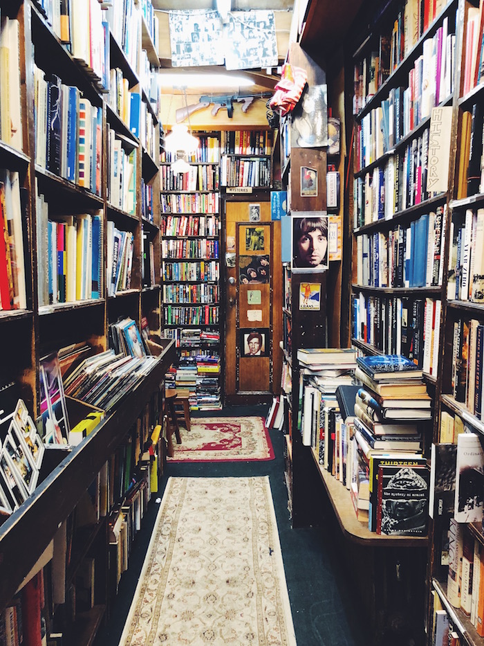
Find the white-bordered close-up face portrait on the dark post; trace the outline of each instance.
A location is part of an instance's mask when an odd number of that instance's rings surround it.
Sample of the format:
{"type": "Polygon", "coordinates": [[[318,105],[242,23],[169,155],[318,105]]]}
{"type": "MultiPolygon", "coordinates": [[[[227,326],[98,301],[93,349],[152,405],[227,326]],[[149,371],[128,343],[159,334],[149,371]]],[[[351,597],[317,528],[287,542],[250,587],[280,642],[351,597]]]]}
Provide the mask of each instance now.
{"type": "Polygon", "coordinates": [[[292,259],[295,273],[328,269],[328,215],[326,211],[292,213],[292,259]]]}

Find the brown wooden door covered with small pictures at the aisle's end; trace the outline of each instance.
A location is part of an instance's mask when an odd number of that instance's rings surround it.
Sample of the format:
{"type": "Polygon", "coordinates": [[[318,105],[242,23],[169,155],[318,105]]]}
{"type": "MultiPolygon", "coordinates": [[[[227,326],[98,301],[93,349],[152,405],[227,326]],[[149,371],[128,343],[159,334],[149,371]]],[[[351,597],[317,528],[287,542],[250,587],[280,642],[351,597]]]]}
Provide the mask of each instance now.
{"type": "Polygon", "coordinates": [[[272,395],[279,393],[282,307],[279,227],[279,222],[270,220],[268,201],[225,203],[227,404],[271,401],[272,395]]]}

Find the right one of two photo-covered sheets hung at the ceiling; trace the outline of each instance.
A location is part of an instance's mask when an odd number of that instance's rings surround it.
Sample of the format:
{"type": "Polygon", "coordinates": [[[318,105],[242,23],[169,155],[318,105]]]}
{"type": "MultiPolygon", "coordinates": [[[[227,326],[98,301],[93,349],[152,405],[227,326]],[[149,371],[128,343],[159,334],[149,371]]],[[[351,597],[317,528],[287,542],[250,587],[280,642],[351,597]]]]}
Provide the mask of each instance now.
{"type": "Polygon", "coordinates": [[[273,11],[232,11],[225,27],[225,67],[250,69],[278,64],[273,11]]]}

